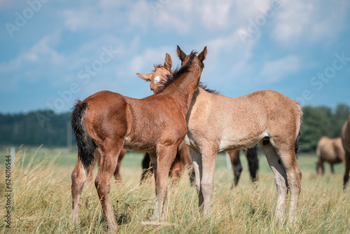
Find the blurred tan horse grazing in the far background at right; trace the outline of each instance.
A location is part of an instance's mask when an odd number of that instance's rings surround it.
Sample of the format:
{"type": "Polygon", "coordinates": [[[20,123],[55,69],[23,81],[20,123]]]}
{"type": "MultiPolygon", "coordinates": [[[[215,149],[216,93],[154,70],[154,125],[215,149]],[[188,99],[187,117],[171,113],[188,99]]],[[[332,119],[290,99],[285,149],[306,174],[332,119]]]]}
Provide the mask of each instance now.
{"type": "Polygon", "coordinates": [[[330,170],[332,171],[332,173],[334,173],[334,164],[345,164],[345,151],[342,146],[342,139],[340,137],[335,139],[330,139],[329,137],[322,137],[317,144],[316,155],[318,158],[318,175],[324,174],[323,162],[330,163],[330,170]]]}

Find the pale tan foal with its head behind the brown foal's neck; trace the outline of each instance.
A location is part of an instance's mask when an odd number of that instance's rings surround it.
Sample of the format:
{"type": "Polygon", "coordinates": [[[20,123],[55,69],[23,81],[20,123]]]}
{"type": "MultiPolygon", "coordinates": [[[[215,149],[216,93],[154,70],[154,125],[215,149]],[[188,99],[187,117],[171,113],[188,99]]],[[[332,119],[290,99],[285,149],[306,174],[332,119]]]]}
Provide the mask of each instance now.
{"type": "MultiPolygon", "coordinates": [[[[177,53],[181,64],[186,64],[189,55],[179,46],[177,53]]],[[[169,67],[156,67],[152,74],[137,75],[150,81],[151,90],[158,93],[159,83],[171,73],[169,67]]],[[[190,146],[199,207],[204,215],[211,213],[216,154],[259,144],[274,172],[276,219],[284,220],[288,190],[289,221],[296,218],[302,179],[295,156],[302,128],[300,104],[273,90],[232,98],[202,87],[193,95],[186,121],[188,133],[184,142],[190,146]]]]}

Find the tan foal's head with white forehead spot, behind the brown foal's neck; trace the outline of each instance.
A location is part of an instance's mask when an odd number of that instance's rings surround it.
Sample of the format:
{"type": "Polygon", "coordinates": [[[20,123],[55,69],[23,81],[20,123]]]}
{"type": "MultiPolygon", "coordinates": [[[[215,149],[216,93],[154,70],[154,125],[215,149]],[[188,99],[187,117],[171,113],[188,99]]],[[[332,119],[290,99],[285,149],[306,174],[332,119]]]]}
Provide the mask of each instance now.
{"type": "Polygon", "coordinates": [[[145,81],[151,82],[150,88],[153,92],[157,92],[158,87],[162,82],[160,81],[166,81],[167,76],[172,74],[172,57],[170,55],[165,55],[165,62],[164,65],[155,65],[155,69],[152,71],[152,73],[148,74],[139,74],[137,73],[137,76],[139,78],[144,79],[145,81]]]}

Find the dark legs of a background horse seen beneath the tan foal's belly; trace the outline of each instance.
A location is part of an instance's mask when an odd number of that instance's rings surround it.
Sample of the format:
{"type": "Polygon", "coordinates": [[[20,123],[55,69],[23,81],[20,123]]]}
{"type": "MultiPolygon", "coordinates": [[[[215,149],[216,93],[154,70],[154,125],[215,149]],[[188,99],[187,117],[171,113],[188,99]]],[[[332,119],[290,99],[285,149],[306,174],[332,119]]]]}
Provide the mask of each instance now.
{"type": "MultiPolygon", "coordinates": [[[[251,174],[251,181],[255,182],[258,181],[258,169],[259,169],[259,160],[258,160],[258,152],[256,149],[256,146],[253,146],[252,148],[246,148],[243,150],[244,155],[246,156],[246,159],[248,160],[248,167],[249,172],[251,174]]],[[[228,155],[230,156],[232,167],[233,167],[233,183],[231,188],[233,186],[237,186],[239,177],[241,176],[241,171],[243,170],[243,167],[241,166],[241,160],[239,159],[239,152],[240,150],[236,151],[228,151],[228,155]]]]}

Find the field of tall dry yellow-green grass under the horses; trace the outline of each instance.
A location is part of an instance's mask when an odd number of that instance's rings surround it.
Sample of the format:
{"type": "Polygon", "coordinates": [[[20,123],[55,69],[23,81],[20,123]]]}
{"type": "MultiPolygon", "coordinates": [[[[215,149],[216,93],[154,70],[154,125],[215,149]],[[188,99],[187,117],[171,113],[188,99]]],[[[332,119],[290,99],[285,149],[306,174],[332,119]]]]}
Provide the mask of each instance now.
{"type": "MultiPolygon", "coordinates": [[[[71,228],[70,177],[76,153],[36,148],[24,148],[15,156],[11,228],[6,228],[6,149],[0,153],[0,233],[106,233],[102,207],[90,182],[80,200],[80,226],[71,228]]],[[[241,157],[244,170],[239,185],[231,190],[232,170],[226,167],[225,154],[218,154],[211,218],[198,214],[195,188],[184,175],[179,185],[169,186],[164,221],[147,225],[144,222],[150,221],[155,198],[154,181],[139,185],[142,156],[128,152],[121,167],[123,185],[115,183],[111,189],[120,233],[350,233],[350,189],[342,192],[343,165],[335,167],[335,174],[325,165],[325,175],[319,178],[316,156],[300,155],[303,177],[297,221],[281,226],[273,219],[274,177],[265,156],[259,159],[258,184],[251,184],[246,159],[241,157]]]]}

